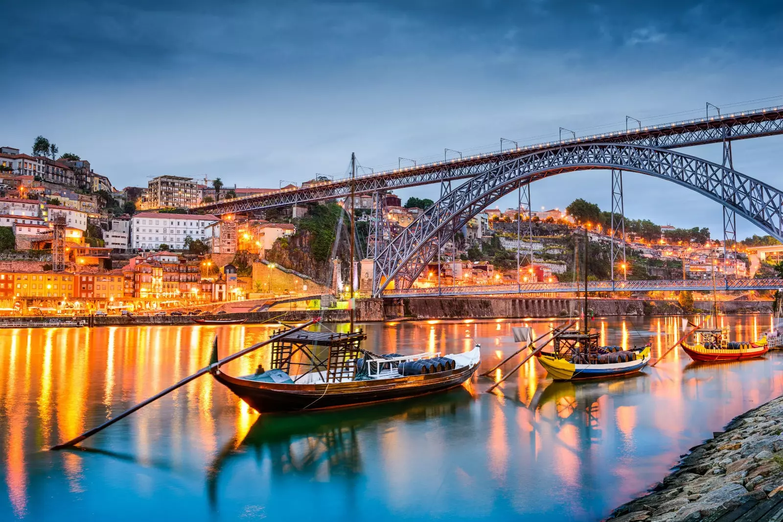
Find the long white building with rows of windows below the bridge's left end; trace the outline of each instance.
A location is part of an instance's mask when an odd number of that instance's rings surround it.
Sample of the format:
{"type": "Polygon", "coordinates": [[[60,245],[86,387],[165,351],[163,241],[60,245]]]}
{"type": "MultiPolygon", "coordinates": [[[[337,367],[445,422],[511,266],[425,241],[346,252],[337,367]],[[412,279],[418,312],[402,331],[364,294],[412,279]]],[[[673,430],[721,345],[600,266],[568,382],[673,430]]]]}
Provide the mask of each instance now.
{"type": "Polygon", "coordinates": [[[130,245],[133,249],[147,249],[157,248],[163,243],[172,249],[182,250],[187,236],[206,243],[207,227],[215,221],[220,220],[211,214],[140,212],[131,218],[130,245]]]}

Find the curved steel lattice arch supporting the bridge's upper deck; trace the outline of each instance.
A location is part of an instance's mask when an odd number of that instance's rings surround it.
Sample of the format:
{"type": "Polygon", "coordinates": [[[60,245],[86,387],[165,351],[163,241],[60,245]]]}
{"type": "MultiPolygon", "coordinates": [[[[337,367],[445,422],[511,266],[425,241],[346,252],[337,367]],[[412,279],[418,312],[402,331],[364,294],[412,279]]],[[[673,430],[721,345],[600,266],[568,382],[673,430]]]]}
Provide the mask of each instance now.
{"type": "Polygon", "coordinates": [[[592,169],[634,171],[675,182],[783,240],[783,192],[767,183],[670,149],[605,142],[567,145],[514,157],[446,193],[378,255],[373,295],[380,297],[391,281],[397,290],[409,288],[438,251],[439,234],[460,229],[500,197],[539,179],[592,169]]]}

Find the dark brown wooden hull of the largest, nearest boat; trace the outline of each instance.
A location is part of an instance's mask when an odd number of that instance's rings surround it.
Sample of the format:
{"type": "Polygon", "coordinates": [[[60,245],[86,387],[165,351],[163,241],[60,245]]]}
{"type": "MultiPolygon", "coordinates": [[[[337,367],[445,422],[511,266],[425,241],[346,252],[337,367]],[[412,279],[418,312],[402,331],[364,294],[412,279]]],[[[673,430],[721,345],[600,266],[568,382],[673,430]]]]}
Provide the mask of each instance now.
{"type": "Polygon", "coordinates": [[[219,369],[212,376],[257,412],[268,413],[341,408],[431,394],[460,386],[477,368],[478,362],[428,375],[328,384],[257,382],[229,376],[219,369]]]}

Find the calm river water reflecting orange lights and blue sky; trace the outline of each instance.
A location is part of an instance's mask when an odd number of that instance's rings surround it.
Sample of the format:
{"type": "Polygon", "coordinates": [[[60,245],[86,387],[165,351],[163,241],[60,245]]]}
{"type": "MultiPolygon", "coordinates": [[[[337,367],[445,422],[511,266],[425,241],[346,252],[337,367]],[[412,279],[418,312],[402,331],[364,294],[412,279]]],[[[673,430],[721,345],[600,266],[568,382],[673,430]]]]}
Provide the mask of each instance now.
{"type": "MultiPolygon", "coordinates": [[[[727,317],[751,339],[767,315],[727,317]]],[[[373,351],[464,351],[489,369],[520,320],[364,325],[373,351]]],[[[551,324],[529,321],[537,333],[551,324]]],[[[594,322],[606,344],[653,343],[680,319],[594,322]]],[[[598,520],[660,480],[687,448],[783,393],[783,355],[692,365],[674,351],[625,380],[552,383],[534,360],[485,394],[258,416],[209,376],[86,441],[46,452],[204,366],[266,326],[0,331],[0,520],[598,520]]],[[[269,354],[232,362],[251,373],[269,354]]],[[[518,360],[518,359],[517,359],[518,360]]]]}

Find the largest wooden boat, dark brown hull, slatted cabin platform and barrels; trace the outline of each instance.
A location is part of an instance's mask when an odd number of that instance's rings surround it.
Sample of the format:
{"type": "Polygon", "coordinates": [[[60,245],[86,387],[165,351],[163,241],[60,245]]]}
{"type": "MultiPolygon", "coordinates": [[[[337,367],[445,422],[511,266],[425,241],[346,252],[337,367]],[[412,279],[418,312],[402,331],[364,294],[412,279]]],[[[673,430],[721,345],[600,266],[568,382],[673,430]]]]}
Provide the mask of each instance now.
{"type": "Polygon", "coordinates": [[[448,390],[470,379],[480,362],[476,345],[467,353],[446,355],[446,359],[453,361],[451,369],[405,374],[410,366],[406,363],[427,366],[439,354],[375,355],[359,348],[359,342],[365,338],[361,330],[352,333],[300,330],[272,344],[269,371],[259,368],[254,375],[236,377],[215,369],[212,376],[258,412],[295,412],[392,401],[448,390]],[[309,369],[290,374],[291,367],[296,365],[309,369]]]}

